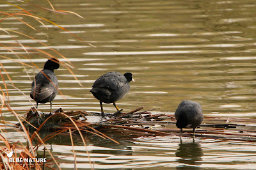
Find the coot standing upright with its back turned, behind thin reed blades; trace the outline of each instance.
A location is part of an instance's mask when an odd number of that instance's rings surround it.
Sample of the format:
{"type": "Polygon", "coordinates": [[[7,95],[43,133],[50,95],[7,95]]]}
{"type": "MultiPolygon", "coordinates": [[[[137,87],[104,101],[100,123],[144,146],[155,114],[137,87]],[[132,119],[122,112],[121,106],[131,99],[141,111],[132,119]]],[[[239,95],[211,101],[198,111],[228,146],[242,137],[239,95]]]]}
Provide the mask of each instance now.
{"type": "Polygon", "coordinates": [[[31,84],[30,97],[36,101],[36,108],[38,103],[45,104],[51,103],[52,112],[52,100],[58,93],[58,79],[53,70],[58,69],[60,63],[58,59],[48,59],[44,65],[44,69],[36,74],[34,81],[31,84]]]}

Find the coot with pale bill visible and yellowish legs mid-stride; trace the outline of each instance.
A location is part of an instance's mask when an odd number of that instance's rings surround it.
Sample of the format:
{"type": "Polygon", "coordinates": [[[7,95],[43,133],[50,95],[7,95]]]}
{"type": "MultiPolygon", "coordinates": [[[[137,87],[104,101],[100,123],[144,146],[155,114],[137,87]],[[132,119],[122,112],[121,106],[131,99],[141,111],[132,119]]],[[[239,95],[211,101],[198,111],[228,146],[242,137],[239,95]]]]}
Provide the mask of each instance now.
{"type": "MultiPolygon", "coordinates": [[[[100,101],[101,114],[104,115],[102,102],[116,107],[116,101],[123,98],[130,90],[129,82],[133,81],[132,73],[122,75],[119,72],[108,72],[101,75],[92,86],[90,92],[100,101]]],[[[119,111],[118,107],[116,110],[119,111]]]]}

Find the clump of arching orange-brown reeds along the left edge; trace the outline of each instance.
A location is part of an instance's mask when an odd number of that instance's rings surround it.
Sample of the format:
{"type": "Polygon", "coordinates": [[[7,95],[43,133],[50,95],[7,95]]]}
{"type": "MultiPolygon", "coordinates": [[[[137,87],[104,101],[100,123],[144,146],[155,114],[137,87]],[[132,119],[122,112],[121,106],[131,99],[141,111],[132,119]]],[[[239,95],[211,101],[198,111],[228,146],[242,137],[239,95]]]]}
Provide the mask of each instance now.
{"type": "MultiPolygon", "coordinates": [[[[56,9],[54,9],[54,6],[52,6],[52,4],[49,0],[47,0],[47,2],[50,6],[49,8],[45,8],[45,7],[38,6],[36,4],[28,3],[28,1],[16,0],[14,3],[8,3],[7,1],[1,1],[1,3],[8,4],[9,6],[12,7],[12,9],[15,8],[15,10],[12,10],[12,11],[9,10],[9,11],[5,11],[5,12],[0,11],[0,23],[6,19],[12,18],[12,19],[16,20],[17,22],[24,24],[24,27],[26,27],[26,29],[31,29],[31,30],[41,33],[42,30],[38,30],[34,26],[32,26],[31,24],[26,22],[26,19],[30,19],[30,20],[36,20],[38,22],[38,24],[42,24],[43,26],[45,25],[45,23],[52,24],[54,26],[59,27],[60,29],[63,29],[64,31],[67,31],[68,33],[70,33],[70,31],[65,29],[65,27],[61,27],[58,24],[56,24],[55,22],[52,22],[51,20],[49,20],[43,16],[37,15],[36,12],[45,10],[47,12],[52,12],[52,13],[56,14],[56,16],[57,15],[66,15],[68,13],[74,14],[77,17],[81,17],[81,16],[78,15],[77,13],[70,12],[70,11],[56,10],[56,9]],[[29,8],[29,10],[26,10],[25,7],[22,7],[23,6],[22,4],[26,4],[26,8],[29,8]]],[[[81,17],[81,18],[83,18],[83,17],[81,17]]],[[[33,36],[31,36],[29,34],[25,34],[24,31],[22,31],[22,30],[16,31],[14,29],[4,29],[3,27],[0,27],[0,31],[1,31],[1,35],[8,35],[8,36],[10,36],[10,38],[12,38],[12,40],[14,40],[14,42],[10,42],[10,43],[0,43],[0,49],[6,50],[6,54],[1,54],[0,59],[10,59],[12,61],[19,63],[20,65],[23,66],[26,74],[29,75],[29,73],[26,71],[27,68],[37,68],[38,71],[40,70],[40,68],[38,68],[38,66],[36,66],[35,63],[33,63],[33,61],[31,60],[31,56],[30,56],[31,52],[36,52],[37,54],[44,56],[44,58],[63,58],[64,61],[60,61],[60,64],[65,66],[65,68],[67,68],[67,70],[73,75],[74,79],[76,79],[77,83],[80,86],[82,86],[82,84],[78,81],[78,79],[76,78],[76,76],[74,75],[74,73],[71,70],[72,68],[74,68],[74,65],[72,65],[72,63],[70,63],[70,61],[68,61],[68,59],[65,58],[65,56],[60,54],[60,52],[47,46],[47,44],[36,40],[36,38],[33,38],[33,36]],[[47,47],[48,50],[51,50],[53,52],[53,55],[50,54],[49,52],[46,52],[45,50],[38,49],[35,47],[29,47],[28,45],[22,44],[17,38],[15,38],[17,36],[25,36],[28,39],[36,41],[39,45],[45,46],[45,47],[47,47]],[[17,49],[23,50],[25,53],[15,52],[15,50],[17,50],[17,49]],[[11,53],[13,57],[8,56],[7,52],[9,54],[11,53]],[[27,62],[22,62],[21,59],[26,59],[27,62]]],[[[27,32],[29,32],[29,31],[27,31],[27,32]]],[[[73,33],[70,33],[70,34],[72,36],[76,37],[78,40],[81,40],[83,43],[93,46],[92,44],[90,44],[88,42],[84,42],[84,40],[82,40],[78,36],[74,35],[73,33]]],[[[95,47],[95,46],[93,46],[93,47],[95,47]]],[[[6,70],[6,68],[4,68],[3,63],[0,63],[0,75],[1,75],[1,80],[2,80],[2,83],[0,84],[0,90],[1,90],[1,93],[0,93],[0,101],[1,101],[1,106],[0,106],[0,114],[1,114],[1,120],[0,120],[1,121],[0,122],[0,143],[1,143],[1,145],[0,145],[0,169],[31,169],[31,168],[44,169],[45,167],[54,169],[51,164],[55,164],[55,167],[58,167],[58,169],[61,169],[58,164],[58,160],[56,160],[52,156],[52,153],[51,153],[51,151],[49,151],[47,149],[45,142],[47,140],[51,139],[51,137],[54,137],[54,135],[58,135],[62,132],[67,131],[70,134],[70,140],[71,140],[71,143],[73,146],[74,143],[72,140],[71,130],[70,129],[58,130],[58,132],[54,132],[54,134],[47,135],[47,137],[44,137],[42,139],[39,135],[41,127],[39,127],[39,128],[35,127],[34,132],[32,134],[29,134],[27,128],[24,127],[24,124],[22,123],[22,121],[24,121],[24,118],[22,118],[19,114],[17,114],[17,112],[14,109],[12,109],[12,103],[9,100],[9,96],[10,96],[9,89],[10,88],[15,89],[15,90],[19,91],[20,93],[22,93],[22,95],[24,95],[25,97],[27,97],[27,96],[18,87],[15,86],[15,84],[12,81],[12,77],[8,74],[8,70],[6,70]],[[9,81],[10,83],[7,83],[7,81],[9,81]],[[15,126],[15,124],[11,123],[10,121],[6,121],[4,118],[3,112],[12,113],[13,116],[16,118],[16,120],[19,121],[20,128],[17,128],[17,126],[15,126]],[[24,135],[24,138],[26,139],[27,143],[22,143],[20,141],[13,141],[13,140],[8,139],[6,134],[10,130],[15,130],[17,132],[22,133],[24,135]],[[37,139],[37,141],[38,141],[37,144],[33,144],[34,139],[37,139]],[[29,164],[28,162],[20,162],[20,163],[11,162],[10,163],[8,161],[8,157],[6,157],[6,153],[10,153],[10,151],[13,151],[13,156],[12,156],[13,158],[36,158],[36,151],[38,150],[38,148],[40,146],[44,146],[45,150],[47,151],[47,154],[51,155],[51,160],[48,159],[49,161],[47,162],[47,164],[42,164],[42,163],[29,164]]],[[[62,95],[61,91],[60,91],[60,94],[62,95]]],[[[29,100],[29,98],[28,98],[28,100],[29,100]]],[[[33,105],[33,104],[31,103],[31,105],[33,105]]],[[[64,116],[67,116],[67,115],[64,115],[64,116]]],[[[77,127],[77,125],[74,121],[73,121],[73,123],[74,123],[74,126],[77,127]]],[[[81,131],[79,130],[78,127],[77,127],[77,131],[81,135],[81,139],[83,139],[83,143],[84,143],[84,147],[85,147],[84,149],[86,150],[86,143],[84,141],[83,134],[81,133],[81,131]]],[[[74,158],[76,158],[76,153],[75,152],[73,152],[73,153],[74,153],[74,158]]],[[[89,157],[89,154],[88,154],[88,157],[89,157]]],[[[74,168],[76,169],[76,159],[75,159],[74,168]]],[[[92,164],[91,164],[91,168],[93,169],[92,164]]]]}

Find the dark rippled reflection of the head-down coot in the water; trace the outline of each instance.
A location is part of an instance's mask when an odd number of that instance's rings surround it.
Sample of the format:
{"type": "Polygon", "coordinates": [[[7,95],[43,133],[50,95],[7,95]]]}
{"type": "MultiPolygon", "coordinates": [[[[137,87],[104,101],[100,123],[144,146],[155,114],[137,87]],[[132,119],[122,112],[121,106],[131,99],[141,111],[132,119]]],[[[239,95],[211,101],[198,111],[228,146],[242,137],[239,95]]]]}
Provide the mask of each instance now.
{"type": "Polygon", "coordinates": [[[180,164],[176,169],[200,169],[204,153],[198,143],[180,143],[175,155],[180,164]]]}

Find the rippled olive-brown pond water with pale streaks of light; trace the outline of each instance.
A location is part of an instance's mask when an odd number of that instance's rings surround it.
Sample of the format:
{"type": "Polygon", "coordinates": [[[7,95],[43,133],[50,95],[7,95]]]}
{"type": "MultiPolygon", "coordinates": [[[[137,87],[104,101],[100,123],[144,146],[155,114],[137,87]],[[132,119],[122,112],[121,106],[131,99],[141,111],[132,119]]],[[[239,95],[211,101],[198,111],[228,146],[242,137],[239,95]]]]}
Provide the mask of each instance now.
{"type": "MultiPolygon", "coordinates": [[[[132,72],[135,79],[135,82],[131,82],[128,95],[116,102],[125,112],[140,106],[147,110],[161,107],[157,111],[174,112],[182,100],[195,100],[202,105],[207,116],[256,118],[254,0],[63,0],[51,3],[56,10],[76,12],[84,19],[72,13],[54,14],[44,10],[33,13],[56,22],[95,47],[81,42],[58,26],[47,22],[41,26],[35,19],[24,16],[20,16],[20,19],[41,32],[14,19],[1,22],[1,28],[33,36],[36,40],[22,35],[15,38],[25,46],[44,50],[65,61],[50,50],[51,47],[74,65],[71,70],[83,86],[62,65],[55,73],[63,95],[59,93],[55,98],[54,109],[62,107],[64,110],[99,112],[99,102],[89,91],[95,79],[115,70],[132,72]]],[[[51,8],[47,1],[36,1],[36,4],[51,8]]],[[[20,6],[28,8],[26,4],[20,6]]],[[[17,10],[9,4],[0,4],[0,9],[5,12],[17,10]]],[[[39,68],[44,66],[47,60],[44,54],[31,48],[28,49],[28,56],[24,50],[13,45],[13,37],[2,33],[0,38],[1,56],[31,64],[28,59],[21,56],[22,59],[18,59],[15,55],[24,54],[39,68]],[[13,47],[14,52],[6,50],[3,45],[13,47]]],[[[0,62],[15,86],[29,98],[31,82],[38,70],[27,66],[25,69],[20,63],[6,58],[1,58],[0,62]]],[[[9,95],[12,109],[20,115],[31,108],[31,103],[20,91],[10,87],[9,95]]],[[[49,104],[39,104],[39,109],[48,111],[49,104]]],[[[115,107],[104,104],[104,110],[115,112],[115,107]]],[[[4,116],[5,120],[17,121],[10,112],[4,112],[4,116]]],[[[19,133],[6,132],[6,135],[9,139],[24,141],[19,133]]],[[[78,138],[75,143],[77,167],[90,168],[88,155],[78,138]]],[[[255,143],[199,137],[192,143],[190,137],[184,137],[180,144],[179,137],[173,136],[120,139],[113,135],[113,138],[121,144],[86,136],[90,160],[96,169],[256,167],[255,143]]],[[[73,155],[68,137],[56,138],[52,144],[54,156],[73,155]]],[[[74,167],[74,157],[64,160],[60,164],[63,169],[74,167]]]]}

